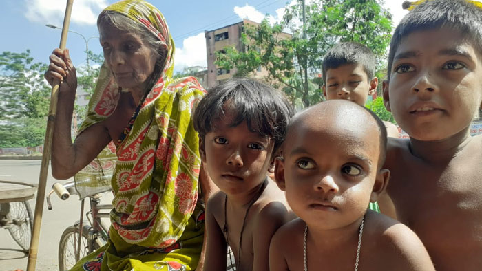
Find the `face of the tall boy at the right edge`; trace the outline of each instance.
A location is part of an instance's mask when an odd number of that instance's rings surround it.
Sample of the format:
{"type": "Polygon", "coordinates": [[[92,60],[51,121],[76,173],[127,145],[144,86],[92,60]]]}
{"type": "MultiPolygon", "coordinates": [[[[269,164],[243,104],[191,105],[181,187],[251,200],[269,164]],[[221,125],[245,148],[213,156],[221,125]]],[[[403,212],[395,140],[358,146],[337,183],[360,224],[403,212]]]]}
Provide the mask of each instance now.
{"type": "Polygon", "coordinates": [[[463,33],[448,28],[409,34],[384,85],[387,109],[417,140],[442,140],[463,131],[481,106],[480,57],[463,33]]]}

